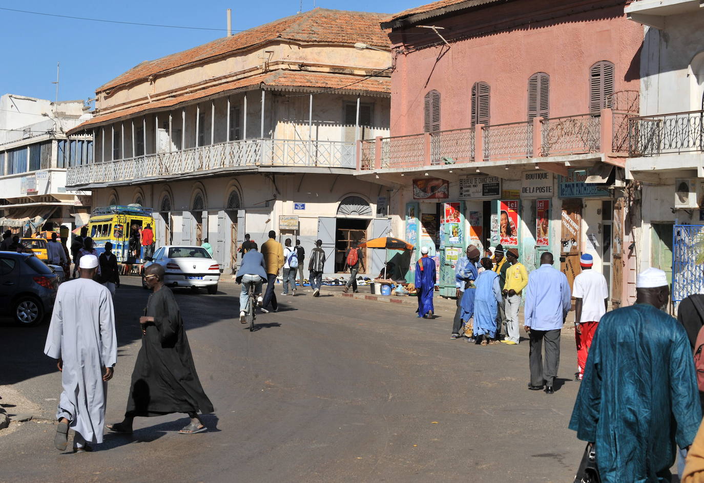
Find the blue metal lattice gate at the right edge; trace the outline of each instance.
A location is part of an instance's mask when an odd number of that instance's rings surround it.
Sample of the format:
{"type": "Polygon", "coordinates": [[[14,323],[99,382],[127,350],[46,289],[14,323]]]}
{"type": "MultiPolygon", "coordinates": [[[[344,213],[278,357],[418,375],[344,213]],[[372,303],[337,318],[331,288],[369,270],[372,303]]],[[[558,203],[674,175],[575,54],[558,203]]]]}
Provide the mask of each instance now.
{"type": "Polygon", "coordinates": [[[674,225],[672,230],[672,301],[704,292],[704,264],[696,263],[704,251],[704,225],[674,225]]]}

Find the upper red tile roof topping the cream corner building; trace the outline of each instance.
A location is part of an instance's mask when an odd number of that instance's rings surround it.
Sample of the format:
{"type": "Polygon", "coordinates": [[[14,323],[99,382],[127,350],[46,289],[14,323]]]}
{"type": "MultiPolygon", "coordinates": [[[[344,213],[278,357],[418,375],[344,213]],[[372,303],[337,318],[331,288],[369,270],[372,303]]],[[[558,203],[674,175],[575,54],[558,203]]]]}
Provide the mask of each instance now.
{"type": "Polygon", "coordinates": [[[241,51],[273,39],[291,39],[297,42],[325,42],[354,44],[364,42],[372,46],[389,48],[386,32],[379,26],[384,13],[351,12],[313,8],[313,10],[272,23],[245,30],[231,37],[222,37],[155,61],[145,61],[122,75],[103,84],[96,92],[102,92],[120,84],[144,79],[150,75],[180,68],[208,58],[241,51]]]}

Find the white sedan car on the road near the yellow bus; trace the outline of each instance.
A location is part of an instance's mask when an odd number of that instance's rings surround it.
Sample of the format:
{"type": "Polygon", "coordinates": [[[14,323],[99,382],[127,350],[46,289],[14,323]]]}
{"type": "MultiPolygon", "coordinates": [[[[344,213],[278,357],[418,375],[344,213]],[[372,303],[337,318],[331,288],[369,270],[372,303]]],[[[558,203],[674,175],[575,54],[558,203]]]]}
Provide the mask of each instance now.
{"type": "MultiPolygon", "coordinates": [[[[163,266],[164,284],[169,287],[203,287],[208,294],[218,293],[220,265],[202,246],[162,246],[151,261],[144,263],[144,268],[153,263],[163,266]]],[[[146,288],[144,275],[142,286],[146,288]]]]}

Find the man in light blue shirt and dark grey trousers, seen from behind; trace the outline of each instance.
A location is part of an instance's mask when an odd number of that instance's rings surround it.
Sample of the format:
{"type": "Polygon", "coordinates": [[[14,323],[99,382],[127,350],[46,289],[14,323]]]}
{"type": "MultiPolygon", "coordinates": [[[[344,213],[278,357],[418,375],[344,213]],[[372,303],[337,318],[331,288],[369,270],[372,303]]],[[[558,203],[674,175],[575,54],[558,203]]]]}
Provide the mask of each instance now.
{"type": "Polygon", "coordinates": [[[553,268],[553,254],[540,257],[540,268],[528,275],[524,327],[530,337],[530,384],[528,389],[554,394],[553,382],[560,365],[560,330],[570,311],[570,284],[553,268]],[[545,368],[543,370],[543,339],[545,368]]]}

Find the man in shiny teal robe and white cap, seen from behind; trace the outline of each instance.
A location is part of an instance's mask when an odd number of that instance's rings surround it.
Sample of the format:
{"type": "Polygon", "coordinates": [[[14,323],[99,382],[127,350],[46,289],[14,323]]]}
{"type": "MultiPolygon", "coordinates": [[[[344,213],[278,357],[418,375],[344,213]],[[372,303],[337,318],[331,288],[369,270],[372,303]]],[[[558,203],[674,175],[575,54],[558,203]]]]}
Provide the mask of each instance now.
{"type": "Polygon", "coordinates": [[[702,418],[689,339],[660,310],[665,272],[639,274],[636,294],[601,319],[570,420],[595,444],[603,483],[669,483],[675,444],[690,446],[702,418]]]}

